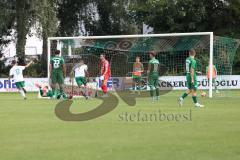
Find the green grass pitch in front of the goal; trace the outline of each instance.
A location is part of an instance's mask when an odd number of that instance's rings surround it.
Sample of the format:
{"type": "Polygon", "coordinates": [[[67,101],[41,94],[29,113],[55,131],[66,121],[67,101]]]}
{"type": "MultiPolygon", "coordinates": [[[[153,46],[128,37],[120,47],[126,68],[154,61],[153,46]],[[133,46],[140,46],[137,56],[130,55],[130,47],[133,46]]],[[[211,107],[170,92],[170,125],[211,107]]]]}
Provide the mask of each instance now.
{"type": "MultiPolygon", "coordinates": [[[[238,160],[240,159],[240,91],[228,98],[199,98],[206,107],[194,108],[188,97],[179,108],[180,92],[152,103],[147,98],[117,108],[97,119],[66,122],[55,116],[59,101],[40,100],[28,94],[0,94],[1,160],[238,160]],[[185,114],[185,121],[124,121],[128,112],[185,114]]],[[[92,110],[101,101],[75,100],[72,112],[92,110]]]]}

